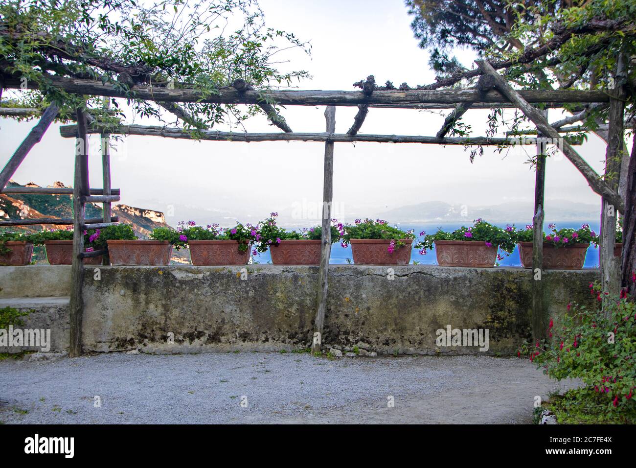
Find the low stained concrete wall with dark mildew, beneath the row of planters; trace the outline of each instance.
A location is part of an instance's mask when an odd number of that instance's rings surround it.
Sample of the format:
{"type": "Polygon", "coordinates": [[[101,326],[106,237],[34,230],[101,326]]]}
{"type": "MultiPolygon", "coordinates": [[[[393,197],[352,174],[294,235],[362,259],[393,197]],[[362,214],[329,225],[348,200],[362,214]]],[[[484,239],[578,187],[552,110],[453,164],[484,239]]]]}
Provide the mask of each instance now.
{"type": "MultiPolygon", "coordinates": [[[[308,346],[317,267],[249,266],[245,280],[241,269],[101,267],[97,280],[93,269],[87,268],[85,351],[291,350],[308,346]],[[170,343],[171,337],[174,343],[170,343]]],[[[6,282],[3,270],[0,286],[6,282]]],[[[393,267],[393,271],[394,279],[389,280],[387,267],[329,267],[326,346],[342,350],[358,346],[378,353],[478,352],[477,347],[436,346],[436,330],[450,325],[453,329],[488,329],[488,353],[508,353],[530,336],[529,270],[410,265],[393,267]]],[[[64,283],[66,271],[57,274],[64,283]]],[[[592,303],[587,285],[597,275],[597,270],[544,272],[550,315],[563,315],[570,301],[592,303]]],[[[67,320],[60,318],[59,322],[53,326],[67,332],[67,320]]]]}

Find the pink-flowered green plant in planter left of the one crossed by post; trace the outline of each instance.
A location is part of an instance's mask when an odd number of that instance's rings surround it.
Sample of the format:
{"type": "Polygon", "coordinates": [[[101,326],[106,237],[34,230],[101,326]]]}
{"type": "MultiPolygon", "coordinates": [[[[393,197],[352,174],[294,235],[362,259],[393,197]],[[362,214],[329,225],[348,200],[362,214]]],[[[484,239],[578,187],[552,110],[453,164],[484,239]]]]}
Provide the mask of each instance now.
{"type": "MultiPolygon", "coordinates": [[[[420,236],[424,236],[422,241],[418,242],[415,247],[420,249],[420,254],[425,255],[428,250],[433,248],[435,241],[481,241],[487,246],[495,246],[501,248],[504,252],[510,253],[515,250],[515,227],[508,226],[506,229],[497,227],[487,221],[478,219],[474,221],[471,227],[460,227],[453,232],[446,232],[441,229],[435,234],[426,234],[420,232],[420,236]]],[[[497,254],[497,260],[503,257],[497,254]]]]}

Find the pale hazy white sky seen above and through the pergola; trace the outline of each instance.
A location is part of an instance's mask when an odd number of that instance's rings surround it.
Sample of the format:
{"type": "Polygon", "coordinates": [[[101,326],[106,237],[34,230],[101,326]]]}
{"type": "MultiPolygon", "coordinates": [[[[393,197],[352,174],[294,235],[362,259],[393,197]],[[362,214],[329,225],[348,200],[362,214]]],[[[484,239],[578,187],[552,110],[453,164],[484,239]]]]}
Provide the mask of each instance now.
{"type": "MultiPolygon", "coordinates": [[[[434,81],[428,53],[418,48],[401,0],[261,0],[260,4],[268,26],[292,31],[312,43],[311,57],[291,51],[285,56],[291,63],[282,65],[313,75],[300,83],[300,89],[350,90],[352,83],[368,74],[375,74],[379,83],[391,80],[396,85],[434,81]]],[[[458,55],[470,66],[471,52],[458,55]]],[[[289,107],[282,113],[294,131],[325,131],[322,107],[289,107]]],[[[356,108],[337,108],[336,132],[346,132],[355,113],[356,108]]],[[[473,126],[474,135],[484,134],[487,113],[466,114],[464,120],[473,126]]],[[[550,120],[561,115],[551,111],[550,120]]],[[[361,133],[434,136],[443,118],[430,111],[371,108],[361,133]]],[[[137,118],[135,123],[154,122],[137,118]]],[[[33,121],[18,124],[0,119],[0,164],[6,163],[32,125],[33,121]]],[[[259,117],[246,127],[252,132],[278,131],[259,117]]],[[[323,143],[128,137],[121,148],[112,159],[113,187],[121,188],[121,202],[168,211],[173,215],[167,218],[171,224],[197,215],[194,219],[199,222],[223,222],[224,216],[253,222],[270,211],[289,213],[303,202],[322,201],[323,143]]],[[[591,136],[578,148],[595,170],[602,171],[605,148],[600,139],[591,136]]],[[[600,203],[583,176],[558,156],[548,161],[546,170],[546,211],[552,219],[558,215],[550,216],[550,199],[600,203]]],[[[532,201],[534,171],[524,164],[527,157],[520,148],[508,154],[485,148],[483,157],[471,164],[469,152],[461,146],[336,143],[334,201],[347,220],[422,201],[468,206],[532,201]]],[[[73,139],[61,138],[59,125],[52,125],[14,179],[43,186],[57,180],[71,185],[73,160],[73,139]]],[[[99,153],[90,155],[92,187],[101,187],[100,164],[99,153]]],[[[529,221],[531,217],[527,213],[529,221]]]]}

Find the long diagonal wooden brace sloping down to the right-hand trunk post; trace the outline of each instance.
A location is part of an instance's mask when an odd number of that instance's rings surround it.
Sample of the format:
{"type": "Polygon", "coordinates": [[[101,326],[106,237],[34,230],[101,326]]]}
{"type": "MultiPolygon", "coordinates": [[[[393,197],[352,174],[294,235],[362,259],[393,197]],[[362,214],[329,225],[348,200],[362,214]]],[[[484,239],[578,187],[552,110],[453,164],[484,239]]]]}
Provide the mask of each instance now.
{"type": "Polygon", "coordinates": [[[514,90],[502,76],[500,76],[490,64],[488,64],[485,60],[475,60],[476,64],[480,67],[480,69],[484,73],[492,74],[495,78],[495,83],[497,83],[497,89],[499,89],[510,101],[516,103],[518,108],[523,112],[523,114],[530,119],[530,121],[537,126],[537,129],[546,137],[553,139],[555,142],[560,143],[560,148],[562,148],[563,154],[565,157],[574,164],[574,167],[578,169],[578,171],[583,175],[585,180],[590,185],[591,189],[594,190],[597,194],[602,197],[606,197],[608,201],[610,201],[614,206],[616,206],[619,211],[622,211],[623,202],[621,201],[621,197],[619,197],[618,192],[613,190],[607,183],[601,180],[594,169],[579,155],[579,153],[572,148],[567,141],[560,138],[558,131],[550,127],[548,123],[548,119],[543,117],[540,111],[536,108],[530,106],[528,101],[523,99],[522,94],[514,90]]]}

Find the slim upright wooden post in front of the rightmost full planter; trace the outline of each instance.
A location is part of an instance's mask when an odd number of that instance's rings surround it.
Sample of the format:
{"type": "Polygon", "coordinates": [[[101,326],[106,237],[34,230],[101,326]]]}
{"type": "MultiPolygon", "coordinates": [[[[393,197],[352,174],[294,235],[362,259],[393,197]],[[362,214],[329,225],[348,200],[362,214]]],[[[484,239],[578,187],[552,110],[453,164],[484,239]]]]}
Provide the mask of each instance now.
{"type": "MultiPolygon", "coordinates": [[[[544,111],[545,117],[547,111],[544,111]]],[[[546,336],[546,315],[543,301],[543,220],[546,184],[546,141],[537,136],[537,169],[534,181],[534,216],[532,218],[532,338],[542,341],[546,336]]]]}

